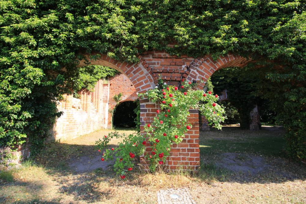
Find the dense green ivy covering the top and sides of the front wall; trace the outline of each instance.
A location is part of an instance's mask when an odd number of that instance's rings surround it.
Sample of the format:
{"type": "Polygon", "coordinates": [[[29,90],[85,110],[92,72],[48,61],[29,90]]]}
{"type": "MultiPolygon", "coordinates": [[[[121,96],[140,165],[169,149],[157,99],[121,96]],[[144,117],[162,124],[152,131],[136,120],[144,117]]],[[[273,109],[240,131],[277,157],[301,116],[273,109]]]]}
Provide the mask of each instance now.
{"type": "Polygon", "coordinates": [[[263,76],[277,90],[265,94],[283,109],[291,156],[305,159],[304,10],[298,0],[1,0],[0,145],[21,144],[26,135],[33,151],[42,144],[81,53],[135,62],[152,49],[194,57],[232,52],[268,62],[263,76]]]}

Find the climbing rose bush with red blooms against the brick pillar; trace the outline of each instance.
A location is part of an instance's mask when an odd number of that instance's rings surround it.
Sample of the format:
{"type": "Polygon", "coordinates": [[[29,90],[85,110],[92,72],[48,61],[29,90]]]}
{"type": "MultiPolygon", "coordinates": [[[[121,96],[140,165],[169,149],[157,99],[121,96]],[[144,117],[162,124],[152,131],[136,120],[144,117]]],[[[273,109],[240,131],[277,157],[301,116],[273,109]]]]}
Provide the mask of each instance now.
{"type": "MultiPolygon", "coordinates": [[[[203,81],[201,81],[203,82],[203,81]]],[[[122,179],[134,168],[137,161],[136,156],[143,155],[147,144],[151,152],[145,155],[149,169],[154,172],[158,165],[165,164],[166,157],[170,155],[171,145],[182,142],[185,133],[192,128],[187,123],[189,109],[199,109],[209,124],[221,129],[221,122],[224,122],[224,108],[218,105],[218,95],[211,91],[204,93],[195,89],[196,83],[185,82],[178,88],[173,85],[166,85],[160,79],[155,89],[139,94],[140,98],[149,98],[151,102],[160,104],[156,111],[156,117],[152,123],[147,123],[144,130],[135,134],[109,133],[103,139],[96,142],[98,151],[107,147],[111,138],[123,138],[117,147],[106,149],[102,161],[113,160],[116,157],[114,171],[122,179]]]]}

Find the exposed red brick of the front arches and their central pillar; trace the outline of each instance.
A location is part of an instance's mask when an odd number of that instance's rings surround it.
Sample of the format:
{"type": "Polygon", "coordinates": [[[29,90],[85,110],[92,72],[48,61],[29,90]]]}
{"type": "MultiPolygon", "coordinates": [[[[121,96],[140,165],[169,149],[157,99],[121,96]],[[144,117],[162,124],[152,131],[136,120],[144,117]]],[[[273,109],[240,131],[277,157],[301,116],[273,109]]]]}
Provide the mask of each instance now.
{"type": "MultiPolygon", "coordinates": [[[[125,74],[139,93],[153,89],[159,77],[171,85],[180,85],[183,78],[187,81],[199,82],[201,78],[207,81],[215,71],[221,68],[242,67],[249,62],[241,56],[232,54],[213,60],[211,55],[200,58],[192,58],[187,55],[178,57],[170,55],[166,51],[146,51],[138,58],[140,59],[139,63],[128,64],[111,59],[107,55],[101,55],[98,59],[89,60],[89,62],[92,65],[108,66],[125,74]]],[[[86,65],[88,64],[84,61],[80,62],[80,66],[86,65]]],[[[198,88],[203,89],[204,85],[205,82],[200,84],[198,88]]],[[[160,108],[159,104],[152,103],[147,99],[140,100],[140,130],[144,130],[145,124],[154,120],[157,108],[160,108]]],[[[170,157],[166,162],[168,169],[194,170],[200,166],[199,113],[197,110],[189,110],[189,112],[188,122],[192,123],[192,129],[185,134],[182,143],[173,144],[170,157]]],[[[149,143],[147,144],[146,152],[150,152],[149,143]]],[[[141,161],[145,164],[144,157],[141,157],[141,161]]]]}

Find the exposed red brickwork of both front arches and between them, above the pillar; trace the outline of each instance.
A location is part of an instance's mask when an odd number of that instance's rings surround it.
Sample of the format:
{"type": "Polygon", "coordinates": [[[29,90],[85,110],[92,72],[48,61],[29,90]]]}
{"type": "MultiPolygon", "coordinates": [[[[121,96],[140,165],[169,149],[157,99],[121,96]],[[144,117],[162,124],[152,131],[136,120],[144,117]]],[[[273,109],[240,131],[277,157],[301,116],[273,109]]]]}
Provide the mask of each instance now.
{"type": "MultiPolygon", "coordinates": [[[[88,56],[88,55],[87,55],[88,56]]],[[[237,66],[243,67],[250,60],[239,55],[227,54],[214,60],[211,55],[204,55],[199,58],[192,58],[188,55],[170,55],[166,51],[145,51],[138,56],[139,63],[129,64],[119,62],[107,55],[100,55],[98,59],[89,59],[91,65],[108,66],[125,74],[132,81],[135,89],[139,93],[144,93],[152,89],[158,82],[159,75],[169,84],[178,85],[184,78],[188,81],[204,81],[217,70],[237,66]]],[[[79,66],[87,66],[84,60],[79,66]]],[[[204,84],[199,85],[203,89],[204,84]]]]}

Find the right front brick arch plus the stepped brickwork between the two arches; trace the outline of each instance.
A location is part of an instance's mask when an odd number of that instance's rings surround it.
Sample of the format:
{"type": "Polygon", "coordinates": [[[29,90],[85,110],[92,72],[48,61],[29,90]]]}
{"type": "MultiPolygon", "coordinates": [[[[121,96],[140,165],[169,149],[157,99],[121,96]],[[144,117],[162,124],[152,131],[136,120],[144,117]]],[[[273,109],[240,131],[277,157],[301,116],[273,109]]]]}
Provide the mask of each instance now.
{"type": "MultiPolygon", "coordinates": [[[[146,51],[139,55],[142,64],[157,84],[159,75],[164,81],[172,85],[179,85],[181,80],[197,81],[203,77],[206,81],[215,71],[224,67],[242,67],[248,62],[247,59],[228,54],[220,56],[216,61],[211,55],[200,58],[189,57],[188,55],[170,55],[166,51],[146,51]]],[[[203,89],[204,84],[199,88],[203,89]]]]}

